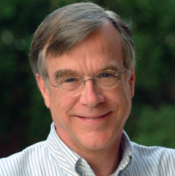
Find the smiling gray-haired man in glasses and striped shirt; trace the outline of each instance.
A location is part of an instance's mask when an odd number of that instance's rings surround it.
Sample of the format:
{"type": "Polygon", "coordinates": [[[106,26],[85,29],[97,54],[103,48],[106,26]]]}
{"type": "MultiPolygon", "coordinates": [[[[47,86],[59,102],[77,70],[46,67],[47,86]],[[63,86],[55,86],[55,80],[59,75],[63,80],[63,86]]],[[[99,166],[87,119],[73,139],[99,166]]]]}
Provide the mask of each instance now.
{"type": "Polygon", "coordinates": [[[37,29],[30,52],[53,124],[48,139],[0,160],[0,175],[175,175],[175,151],[130,142],[134,44],[118,15],[65,6],[37,29]]]}

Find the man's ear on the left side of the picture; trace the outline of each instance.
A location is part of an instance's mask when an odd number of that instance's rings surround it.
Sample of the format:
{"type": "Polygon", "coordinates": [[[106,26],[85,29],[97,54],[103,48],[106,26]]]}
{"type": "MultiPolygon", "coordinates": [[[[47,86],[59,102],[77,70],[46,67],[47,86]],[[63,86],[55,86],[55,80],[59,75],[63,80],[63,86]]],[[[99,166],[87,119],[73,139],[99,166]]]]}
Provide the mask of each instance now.
{"type": "Polygon", "coordinates": [[[45,82],[43,81],[43,79],[40,77],[38,73],[36,73],[36,80],[37,80],[39,89],[41,91],[41,94],[44,98],[45,105],[46,107],[50,108],[50,93],[45,85],[45,82]]]}

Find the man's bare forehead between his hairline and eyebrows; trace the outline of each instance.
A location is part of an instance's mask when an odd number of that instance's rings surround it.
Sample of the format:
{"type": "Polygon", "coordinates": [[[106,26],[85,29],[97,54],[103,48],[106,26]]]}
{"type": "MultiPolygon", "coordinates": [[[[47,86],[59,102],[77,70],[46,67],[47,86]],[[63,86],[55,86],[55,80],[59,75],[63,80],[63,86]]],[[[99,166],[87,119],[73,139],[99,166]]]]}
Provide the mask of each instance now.
{"type": "Polygon", "coordinates": [[[106,65],[123,70],[123,50],[119,33],[110,23],[94,30],[69,52],[47,60],[48,74],[72,70],[80,74],[95,74],[106,65]]]}

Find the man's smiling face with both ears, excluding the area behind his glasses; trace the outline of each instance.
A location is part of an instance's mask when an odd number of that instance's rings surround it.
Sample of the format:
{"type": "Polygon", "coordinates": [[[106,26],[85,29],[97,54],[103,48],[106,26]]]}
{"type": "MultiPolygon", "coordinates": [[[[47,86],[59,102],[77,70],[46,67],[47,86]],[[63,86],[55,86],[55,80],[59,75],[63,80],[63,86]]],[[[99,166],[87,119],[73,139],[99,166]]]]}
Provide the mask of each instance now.
{"type": "MultiPolygon", "coordinates": [[[[124,70],[120,35],[111,24],[93,31],[71,50],[47,61],[50,82],[58,71],[69,70],[83,79],[93,78],[104,67],[124,70]]],[[[67,73],[66,73],[67,74],[67,73]]],[[[120,143],[124,124],[130,114],[134,95],[135,75],[126,71],[117,86],[110,90],[97,89],[92,80],[85,82],[81,94],[67,96],[62,88],[49,84],[49,92],[37,75],[45,104],[50,108],[58,136],[75,152],[111,148],[120,143]]]]}

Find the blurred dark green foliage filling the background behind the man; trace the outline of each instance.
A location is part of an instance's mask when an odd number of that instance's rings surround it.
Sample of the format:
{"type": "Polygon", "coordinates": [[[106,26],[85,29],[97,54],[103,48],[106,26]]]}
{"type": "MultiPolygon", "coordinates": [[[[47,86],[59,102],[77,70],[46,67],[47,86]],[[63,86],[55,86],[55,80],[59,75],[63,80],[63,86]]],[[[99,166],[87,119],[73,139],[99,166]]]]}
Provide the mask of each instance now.
{"type": "MultiPolygon", "coordinates": [[[[74,2],[81,1],[0,1],[0,157],[47,138],[52,120],[28,53],[45,16],[74,2]]],[[[136,87],[125,130],[140,144],[175,148],[175,1],[92,2],[118,13],[133,33],[136,87]]]]}

